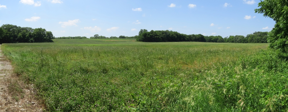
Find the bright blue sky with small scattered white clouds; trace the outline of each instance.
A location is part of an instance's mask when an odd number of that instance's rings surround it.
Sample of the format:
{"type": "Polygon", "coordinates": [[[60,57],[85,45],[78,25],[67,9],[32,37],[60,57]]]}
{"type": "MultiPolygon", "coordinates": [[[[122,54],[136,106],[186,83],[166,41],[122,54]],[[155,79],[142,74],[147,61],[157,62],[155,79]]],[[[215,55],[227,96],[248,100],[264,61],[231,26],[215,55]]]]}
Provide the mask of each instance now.
{"type": "Polygon", "coordinates": [[[140,29],[204,36],[270,31],[258,0],[0,0],[0,24],[45,28],[55,37],[135,36],[140,29]]]}

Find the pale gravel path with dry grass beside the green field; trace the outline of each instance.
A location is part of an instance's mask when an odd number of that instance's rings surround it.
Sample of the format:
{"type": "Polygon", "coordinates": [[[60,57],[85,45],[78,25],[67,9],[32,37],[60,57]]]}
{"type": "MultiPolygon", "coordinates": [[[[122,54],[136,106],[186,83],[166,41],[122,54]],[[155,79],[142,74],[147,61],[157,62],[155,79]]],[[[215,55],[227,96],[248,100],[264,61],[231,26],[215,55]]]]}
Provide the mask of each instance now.
{"type": "Polygon", "coordinates": [[[31,85],[19,81],[12,70],[11,63],[3,56],[0,45],[0,112],[42,112],[43,106],[35,100],[31,85]],[[18,94],[20,98],[15,99],[12,96],[13,84],[22,89],[22,95],[18,94]]]}

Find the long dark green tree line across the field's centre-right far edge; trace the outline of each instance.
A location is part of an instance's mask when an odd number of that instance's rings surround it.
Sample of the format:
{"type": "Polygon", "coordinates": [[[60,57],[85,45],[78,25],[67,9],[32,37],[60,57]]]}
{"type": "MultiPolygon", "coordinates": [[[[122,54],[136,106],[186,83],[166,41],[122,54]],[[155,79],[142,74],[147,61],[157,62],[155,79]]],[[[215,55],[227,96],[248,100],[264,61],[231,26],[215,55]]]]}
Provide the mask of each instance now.
{"type": "Polygon", "coordinates": [[[267,43],[268,32],[254,32],[246,37],[242,35],[229,36],[203,36],[202,34],[181,34],[169,30],[147,30],[141,29],[137,41],[141,42],[212,42],[212,43],[267,43]]]}

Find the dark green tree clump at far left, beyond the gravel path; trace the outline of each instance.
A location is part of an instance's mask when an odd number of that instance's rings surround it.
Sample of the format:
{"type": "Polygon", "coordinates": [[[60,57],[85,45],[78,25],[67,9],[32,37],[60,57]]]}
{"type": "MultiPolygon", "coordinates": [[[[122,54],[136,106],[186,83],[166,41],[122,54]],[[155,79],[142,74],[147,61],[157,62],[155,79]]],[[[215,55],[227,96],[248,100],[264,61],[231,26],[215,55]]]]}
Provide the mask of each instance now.
{"type": "Polygon", "coordinates": [[[3,24],[0,27],[0,43],[43,43],[53,42],[52,32],[43,28],[20,27],[3,24]]]}

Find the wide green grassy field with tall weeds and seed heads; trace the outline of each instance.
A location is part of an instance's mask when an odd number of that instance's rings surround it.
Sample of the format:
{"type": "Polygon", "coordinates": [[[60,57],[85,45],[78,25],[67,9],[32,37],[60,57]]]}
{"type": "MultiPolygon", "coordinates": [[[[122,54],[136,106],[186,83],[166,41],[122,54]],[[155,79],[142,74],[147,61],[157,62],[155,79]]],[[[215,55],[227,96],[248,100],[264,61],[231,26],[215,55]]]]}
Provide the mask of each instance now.
{"type": "Polygon", "coordinates": [[[287,111],[288,64],[268,44],[53,41],[2,45],[47,111],[287,111]]]}

